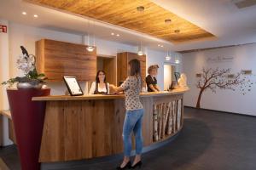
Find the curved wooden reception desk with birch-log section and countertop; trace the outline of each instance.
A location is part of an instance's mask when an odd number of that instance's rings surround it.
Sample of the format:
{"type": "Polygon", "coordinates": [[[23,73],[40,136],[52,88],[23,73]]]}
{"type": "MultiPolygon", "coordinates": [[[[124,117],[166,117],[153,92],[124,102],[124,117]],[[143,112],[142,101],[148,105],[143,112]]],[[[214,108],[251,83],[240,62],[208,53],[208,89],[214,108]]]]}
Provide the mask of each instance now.
{"type": "MultiPolygon", "coordinates": [[[[172,138],[183,127],[188,89],[141,94],[144,146],[172,138]]],[[[47,96],[40,162],[73,161],[123,152],[124,95],[47,96]]]]}

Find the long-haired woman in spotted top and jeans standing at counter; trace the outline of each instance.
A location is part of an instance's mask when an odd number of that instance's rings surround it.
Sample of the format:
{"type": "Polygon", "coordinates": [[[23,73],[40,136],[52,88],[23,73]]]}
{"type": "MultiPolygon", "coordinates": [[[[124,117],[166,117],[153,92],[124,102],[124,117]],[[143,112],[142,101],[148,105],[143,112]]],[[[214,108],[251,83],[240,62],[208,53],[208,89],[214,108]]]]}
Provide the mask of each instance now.
{"type": "Polygon", "coordinates": [[[125,156],[122,164],[117,169],[136,168],[142,166],[141,154],[143,151],[143,105],[140,101],[139,94],[142,89],[140,61],[131,59],[129,62],[130,76],[126,78],[121,86],[113,88],[114,93],[125,91],[125,122],[123,126],[123,140],[125,146],[125,156]],[[131,166],[131,133],[134,133],[136,139],[136,156],[131,166]]]}

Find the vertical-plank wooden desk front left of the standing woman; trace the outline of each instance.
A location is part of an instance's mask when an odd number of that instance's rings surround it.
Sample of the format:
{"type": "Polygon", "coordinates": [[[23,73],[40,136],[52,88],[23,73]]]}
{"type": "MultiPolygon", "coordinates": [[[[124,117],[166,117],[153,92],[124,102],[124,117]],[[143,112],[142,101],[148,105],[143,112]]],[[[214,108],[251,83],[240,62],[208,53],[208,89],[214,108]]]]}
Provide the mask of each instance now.
{"type": "Polygon", "coordinates": [[[47,102],[39,161],[110,155],[113,125],[113,100],[47,102]]]}

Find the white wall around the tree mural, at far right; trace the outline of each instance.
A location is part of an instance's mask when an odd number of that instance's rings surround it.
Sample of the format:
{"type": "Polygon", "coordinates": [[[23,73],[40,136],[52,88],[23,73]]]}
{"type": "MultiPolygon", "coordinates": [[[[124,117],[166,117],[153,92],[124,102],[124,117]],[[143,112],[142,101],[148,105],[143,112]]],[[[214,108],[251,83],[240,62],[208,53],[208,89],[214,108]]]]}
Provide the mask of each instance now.
{"type": "MultiPolygon", "coordinates": [[[[206,68],[230,68],[231,72],[241,70],[252,70],[253,75],[249,78],[256,83],[256,44],[242,45],[230,48],[217,48],[193,53],[183,54],[183,71],[188,77],[190,91],[185,94],[184,105],[196,105],[199,89],[195,87],[197,78],[196,73],[201,73],[202,67],[206,68]],[[232,61],[209,62],[208,58],[216,57],[233,57],[232,61]]],[[[201,108],[229,111],[247,115],[256,116],[256,85],[250,93],[242,95],[239,90],[221,90],[217,89],[217,93],[206,91],[202,95],[201,108]]]]}

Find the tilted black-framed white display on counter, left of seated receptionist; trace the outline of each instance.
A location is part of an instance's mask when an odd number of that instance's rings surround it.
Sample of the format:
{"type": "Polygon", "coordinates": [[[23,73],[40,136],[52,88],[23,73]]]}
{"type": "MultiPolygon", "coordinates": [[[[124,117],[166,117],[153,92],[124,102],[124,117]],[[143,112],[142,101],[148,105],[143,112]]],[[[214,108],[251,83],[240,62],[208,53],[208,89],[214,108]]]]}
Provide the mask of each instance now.
{"type": "Polygon", "coordinates": [[[82,88],[79,85],[76,77],[63,77],[64,82],[66,83],[68,92],[72,96],[84,95],[82,88]]]}

